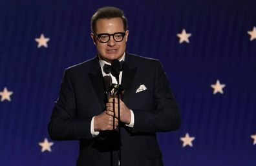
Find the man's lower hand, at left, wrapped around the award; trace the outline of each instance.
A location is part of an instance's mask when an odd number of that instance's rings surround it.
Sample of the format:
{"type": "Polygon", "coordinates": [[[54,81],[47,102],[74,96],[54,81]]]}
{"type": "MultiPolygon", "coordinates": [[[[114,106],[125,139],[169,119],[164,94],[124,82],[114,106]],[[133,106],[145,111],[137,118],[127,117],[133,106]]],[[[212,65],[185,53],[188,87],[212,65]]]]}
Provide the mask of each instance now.
{"type": "Polygon", "coordinates": [[[118,127],[118,119],[113,119],[113,116],[108,115],[106,111],[102,112],[98,116],[95,116],[94,118],[94,131],[114,130],[116,127],[118,127]]]}

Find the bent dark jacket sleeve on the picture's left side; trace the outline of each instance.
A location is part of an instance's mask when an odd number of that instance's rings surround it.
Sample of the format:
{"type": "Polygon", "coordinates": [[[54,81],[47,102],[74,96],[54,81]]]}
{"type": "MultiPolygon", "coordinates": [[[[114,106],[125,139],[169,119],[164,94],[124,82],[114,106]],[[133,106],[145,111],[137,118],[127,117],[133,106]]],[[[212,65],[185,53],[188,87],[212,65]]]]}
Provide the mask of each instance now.
{"type": "Polygon", "coordinates": [[[79,119],[76,111],[76,96],[69,70],[65,70],[59,98],[55,102],[48,133],[52,140],[79,140],[81,138],[92,138],[91,118],[79,119]]]}

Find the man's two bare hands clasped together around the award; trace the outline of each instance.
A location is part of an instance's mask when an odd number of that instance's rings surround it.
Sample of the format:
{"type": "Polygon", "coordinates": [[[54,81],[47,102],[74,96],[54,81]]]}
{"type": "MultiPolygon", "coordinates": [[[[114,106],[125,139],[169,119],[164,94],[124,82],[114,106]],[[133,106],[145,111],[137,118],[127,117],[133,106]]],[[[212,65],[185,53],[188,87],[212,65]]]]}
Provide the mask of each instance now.
{"type": "MultiPolygon", "coordinates": [[[[121,99],[120,121],[127,125],[131,122],[131,111],[121,99]]],[[[106,104],[106,110],[94,118],[94,130],[113,130],[116,127],[118,127],[118,99],[109,98],[109,102],[106,104]]]]}

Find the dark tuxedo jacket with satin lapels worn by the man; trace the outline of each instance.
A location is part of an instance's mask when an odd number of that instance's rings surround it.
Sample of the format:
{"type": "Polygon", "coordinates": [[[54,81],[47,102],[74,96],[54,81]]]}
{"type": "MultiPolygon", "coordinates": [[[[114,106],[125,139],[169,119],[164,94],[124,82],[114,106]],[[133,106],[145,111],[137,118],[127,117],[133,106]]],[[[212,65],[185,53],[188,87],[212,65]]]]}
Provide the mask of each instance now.
{"type": "Polygon", "coordinates": [[[59,98],[52,110],[48,132],[52,140],[79,140],[77,165],[118,165],[121,145],[123,166],[163,165],[156,132],[180,127],[180,114],[165,72],[156,59],[125,54],[123,102],[134,112],[134,127],[92,137],[91,119],[105,110],[105,90],[98,58],[65,70],[59,98]],[[136,93],[140,85],[147,90],[136,93]]]}

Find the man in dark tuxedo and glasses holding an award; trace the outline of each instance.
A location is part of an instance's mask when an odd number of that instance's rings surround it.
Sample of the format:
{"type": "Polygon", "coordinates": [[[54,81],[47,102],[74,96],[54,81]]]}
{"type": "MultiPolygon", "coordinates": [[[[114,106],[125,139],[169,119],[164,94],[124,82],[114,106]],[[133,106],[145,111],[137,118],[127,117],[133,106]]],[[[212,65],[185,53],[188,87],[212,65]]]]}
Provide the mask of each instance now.
{"type": "Polygon", "coordinates": [[[91,30],[98,55],[65,70],[50,138],[79,140],[78,166],[163,165],[156,132],[177,130],[180,114],[160,61],[125,52],[129,31],[118,8],[98,9],[91,30]],[[107,70],[113,59],[123,61],[119,125],[117,99],[107,98],[103,82],[111,76],[117,83],[107,70]]]}

